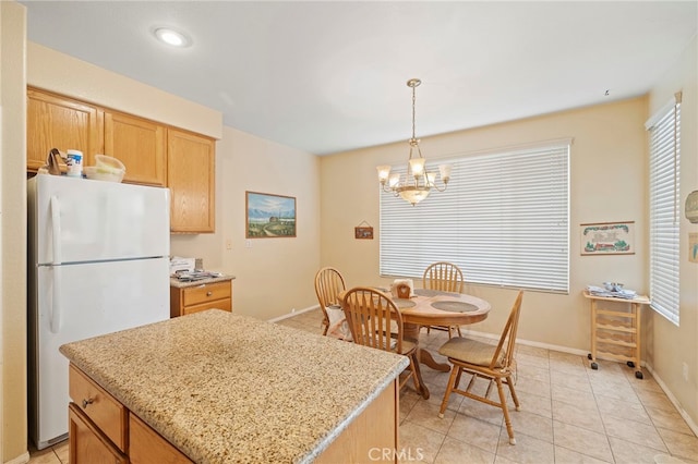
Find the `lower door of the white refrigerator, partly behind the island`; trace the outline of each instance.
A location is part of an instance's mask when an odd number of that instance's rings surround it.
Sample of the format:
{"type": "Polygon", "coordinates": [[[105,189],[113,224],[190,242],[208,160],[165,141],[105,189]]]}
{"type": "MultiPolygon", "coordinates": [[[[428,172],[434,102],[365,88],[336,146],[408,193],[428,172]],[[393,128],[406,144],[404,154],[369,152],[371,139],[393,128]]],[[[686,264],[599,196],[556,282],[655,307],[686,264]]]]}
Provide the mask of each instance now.
{"type": "Polygon", "coordinates": [[[37,268],[29,419],[39,449],[68,432],[68,359],[59,346],[169,319],[168,268],[166,257],[37,268]]]}

